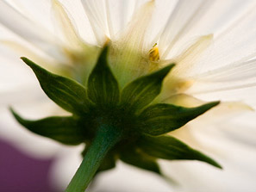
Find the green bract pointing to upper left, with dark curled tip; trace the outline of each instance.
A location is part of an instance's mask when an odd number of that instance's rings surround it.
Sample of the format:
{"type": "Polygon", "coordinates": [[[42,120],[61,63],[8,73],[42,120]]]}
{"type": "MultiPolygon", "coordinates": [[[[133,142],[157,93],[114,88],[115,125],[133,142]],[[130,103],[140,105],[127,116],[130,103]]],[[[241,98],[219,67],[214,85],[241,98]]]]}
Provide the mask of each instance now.
{"type": "Polygon", "coordinates": [[[22,58],[22,60],[34,71],[42,90],[53,102],[74,114],[87,112],[86,90],[81,84],[72,79],[55,75],[27,58],[22,58]]]}

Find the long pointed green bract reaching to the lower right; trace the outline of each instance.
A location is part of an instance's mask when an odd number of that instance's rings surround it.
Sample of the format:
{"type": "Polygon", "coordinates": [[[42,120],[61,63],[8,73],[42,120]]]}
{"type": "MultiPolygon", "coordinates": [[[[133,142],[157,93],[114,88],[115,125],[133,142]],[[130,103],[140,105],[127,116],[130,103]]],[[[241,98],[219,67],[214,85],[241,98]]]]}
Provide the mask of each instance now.
{"type": "Polygon", "coordinates": [[[172,136],[148,136],[140,139],[138,146],[143,152],[155,158],[199,160],[222,169],[222,166],[212,158],[190,148],[190,146],[172,136]]]}

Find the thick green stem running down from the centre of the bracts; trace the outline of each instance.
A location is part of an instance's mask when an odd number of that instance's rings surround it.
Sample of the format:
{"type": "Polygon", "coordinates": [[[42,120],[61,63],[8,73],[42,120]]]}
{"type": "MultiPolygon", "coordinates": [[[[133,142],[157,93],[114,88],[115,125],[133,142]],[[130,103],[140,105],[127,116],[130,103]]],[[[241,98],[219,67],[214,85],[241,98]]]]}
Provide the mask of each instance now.
{"type": "Polygon", "coordinates": [[[66,192],[84,192],[109,149],[115,146],[121,137],[122,131],[118,128],[107,125],[98,127],[97,136],[86,152],[71,183],[66,188],[66,192]]]}

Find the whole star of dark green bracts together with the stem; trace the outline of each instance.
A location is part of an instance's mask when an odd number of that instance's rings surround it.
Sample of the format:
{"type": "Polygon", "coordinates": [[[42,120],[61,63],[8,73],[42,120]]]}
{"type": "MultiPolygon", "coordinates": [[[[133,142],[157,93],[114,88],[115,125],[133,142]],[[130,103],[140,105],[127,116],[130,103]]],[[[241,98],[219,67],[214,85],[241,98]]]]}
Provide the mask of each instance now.
{"type": "Polygon", "coordinates": [[[28,130],[63,144],[86,145],[84,160],[66,191],[84,191],[96,173],[114,168],[117,159],[157,174],[161,173],[158,158],[199,160],[221,168],[202,152],[163,135],[183,127],[219,102],[197,108],[151,104],[174,65],[139,77],[120,90],[107,55],[108,46],[105,46],[86,87],[22,58],[34,71],[47,96],[73,115],[28,121],[12,110],[16,120],[28,130]]]}

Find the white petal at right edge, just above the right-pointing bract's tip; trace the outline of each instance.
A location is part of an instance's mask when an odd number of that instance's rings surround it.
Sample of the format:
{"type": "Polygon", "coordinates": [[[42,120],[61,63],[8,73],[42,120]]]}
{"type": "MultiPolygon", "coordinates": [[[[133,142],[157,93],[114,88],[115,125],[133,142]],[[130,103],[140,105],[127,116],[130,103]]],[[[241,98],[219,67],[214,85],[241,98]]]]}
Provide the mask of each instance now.
{"type": "Polygon", "coordinates": [[[227,65],[220,67],[219,69],[206,72],[197,78],[197,81],[188,90],[188,92],[193,94],[212,94],[215,92],[218,95],[228,95],[229,99],[235,96],[242,95],[244,90],[250,89],[250,94],[239,96],[238,98],[243,98],[243,100],[248,100],[249,96],[253,96],[255,92],[255,60],[245,61],[238,65],[227,65]],[[234,95],[234,92],[236,93],[234,95]],[[239,94],[239,95],[238,95],[239,94]]]}

